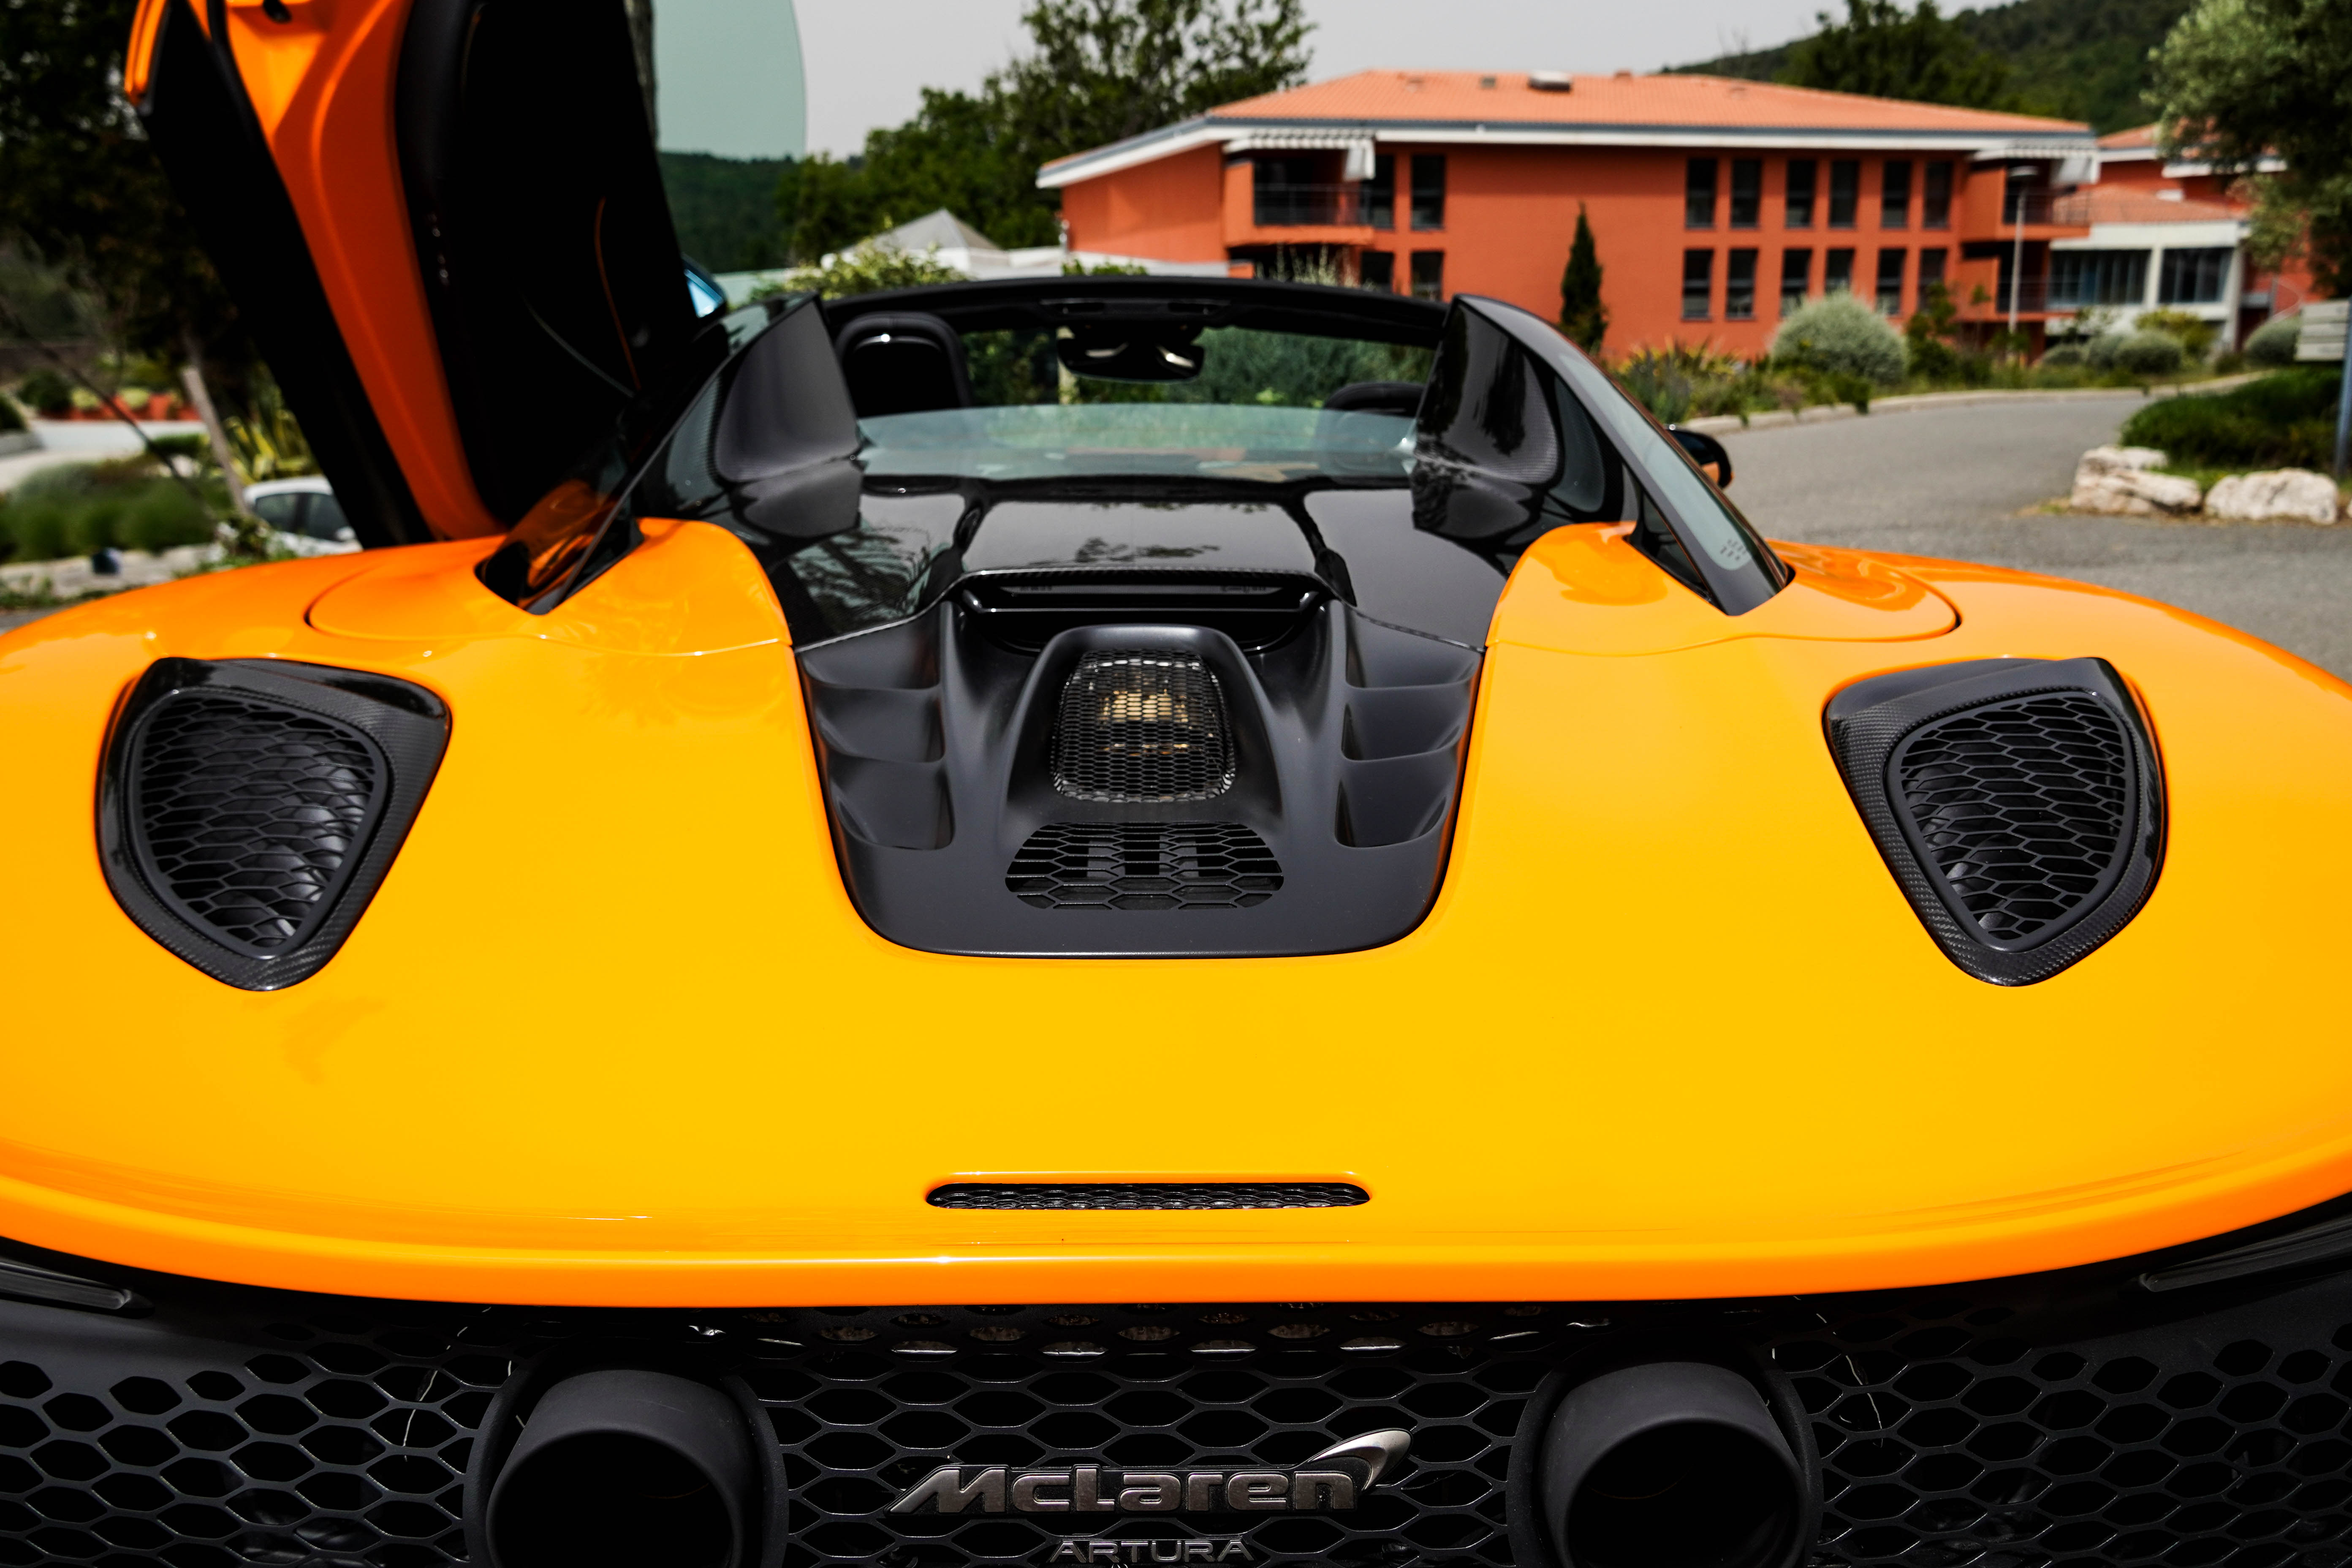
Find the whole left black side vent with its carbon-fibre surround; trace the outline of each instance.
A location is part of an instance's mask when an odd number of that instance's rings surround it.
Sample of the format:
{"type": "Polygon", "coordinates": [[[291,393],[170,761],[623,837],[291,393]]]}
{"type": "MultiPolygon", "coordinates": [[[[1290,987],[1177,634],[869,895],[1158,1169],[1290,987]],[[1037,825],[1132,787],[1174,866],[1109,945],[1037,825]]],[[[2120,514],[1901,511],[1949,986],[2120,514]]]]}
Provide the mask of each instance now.
{"type": "Polygon", "coordinates": [[[447,710],[407,682],[165,658],[125,705],[99,832],[125,912],[245,990],[334,957],[440,766],[447,710]]]}

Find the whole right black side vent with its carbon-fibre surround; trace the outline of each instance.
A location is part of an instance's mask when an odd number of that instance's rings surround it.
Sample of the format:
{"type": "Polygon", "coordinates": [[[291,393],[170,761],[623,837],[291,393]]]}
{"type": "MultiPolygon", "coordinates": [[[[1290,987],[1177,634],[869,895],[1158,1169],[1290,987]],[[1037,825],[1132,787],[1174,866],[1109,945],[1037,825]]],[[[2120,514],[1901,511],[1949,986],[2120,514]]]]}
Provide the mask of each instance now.
{"type": "Polygon", "coordinates": [[[1828,719],[1879,853],[1978,980],[2046,980],[2154,886],[2164,778],[2105,661],[1900,670],[1842,691],[1828,719]]]}

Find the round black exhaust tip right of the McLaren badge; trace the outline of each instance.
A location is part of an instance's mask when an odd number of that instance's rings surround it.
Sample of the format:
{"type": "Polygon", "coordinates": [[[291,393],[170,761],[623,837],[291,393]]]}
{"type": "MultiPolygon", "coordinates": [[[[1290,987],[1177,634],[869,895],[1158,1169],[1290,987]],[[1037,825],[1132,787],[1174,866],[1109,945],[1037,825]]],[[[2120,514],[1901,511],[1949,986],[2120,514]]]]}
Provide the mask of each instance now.
{"type": "Polygon", "coordinates": [[[1541,1486],[1566,1568],[1790,1568],[1804,1544],[1797,1455],[1755,1385],[1703,1361],[1569,1389],[1541,1486]]]}

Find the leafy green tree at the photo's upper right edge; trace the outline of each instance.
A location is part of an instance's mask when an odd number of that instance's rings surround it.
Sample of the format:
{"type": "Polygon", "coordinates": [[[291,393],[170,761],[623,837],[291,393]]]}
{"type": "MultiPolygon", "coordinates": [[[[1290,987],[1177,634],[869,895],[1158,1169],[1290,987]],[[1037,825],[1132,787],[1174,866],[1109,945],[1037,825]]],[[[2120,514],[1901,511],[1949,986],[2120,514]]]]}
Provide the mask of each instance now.
{"type": "Polygon", "coordinates": [[[2201,0],[2157,52],[2164,153],[2253,179],[2256,247],[2307,235],[2321,287],[2352,289],[2352,5],[2201,0]],[[2256,174],[2265,158],[2281,174],[2256,174]]]}

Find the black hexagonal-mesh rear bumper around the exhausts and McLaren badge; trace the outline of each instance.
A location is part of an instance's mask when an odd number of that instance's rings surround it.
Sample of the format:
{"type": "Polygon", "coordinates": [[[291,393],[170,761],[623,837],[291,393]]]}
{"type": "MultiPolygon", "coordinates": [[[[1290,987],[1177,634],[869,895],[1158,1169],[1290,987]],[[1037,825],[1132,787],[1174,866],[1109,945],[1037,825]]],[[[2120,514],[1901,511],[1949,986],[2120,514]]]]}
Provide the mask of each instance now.
{"type": "Polygon", "coordinates": [[[1152,1561],[1155,1540],[1235,1535],[1258,1563],[1508,1568],[1531,1540],[1522,1521],[1515,1554],[1505,1516],[1531,1401],[1573,1359],[1651,1342],[1785,1375],[1825,1483],[1813,1563],[2352,1561],[2352,1279],[2180,1293],[2197,1302],[2011,1281],[1632,1307],[550,1312],[89,1272],[155,1312],[0,1302],[0,1563],[466,1561],[496,1392],[607,1359],[757,1394],[793,1568],[1042,1566],[1063,1540],[1152,1561]],[[1411,1462],[1348,1514],[887,1512],[943,1462],[1289,1467],[1376,1429],[1411,1432],[1411,1462]]]}

